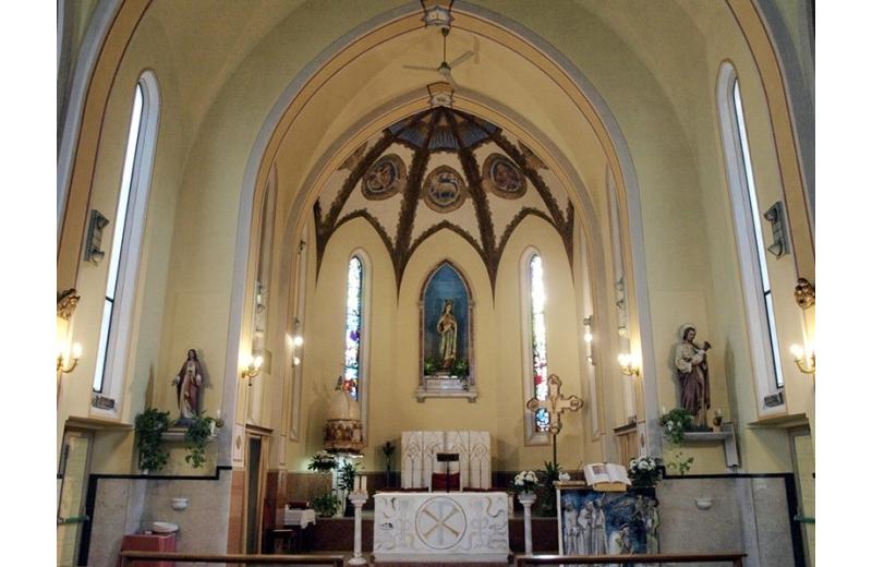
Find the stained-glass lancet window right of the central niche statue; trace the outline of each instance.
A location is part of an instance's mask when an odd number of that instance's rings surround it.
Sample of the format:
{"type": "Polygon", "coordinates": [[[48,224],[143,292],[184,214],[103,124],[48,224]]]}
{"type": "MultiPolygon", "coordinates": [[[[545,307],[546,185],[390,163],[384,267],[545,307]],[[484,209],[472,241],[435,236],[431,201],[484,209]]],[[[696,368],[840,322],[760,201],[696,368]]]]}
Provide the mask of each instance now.
{"type": "MultiPolygon", "coordinates": [[[[545,331],[545,270],[542,255],[534,249],[521,256],[521,309],[524,402],[548,397],[548,347],[545,331]]],[[[524,407],[526,443],[548,443],[550,414],[545,409],[531,413],[524,407]]]]}

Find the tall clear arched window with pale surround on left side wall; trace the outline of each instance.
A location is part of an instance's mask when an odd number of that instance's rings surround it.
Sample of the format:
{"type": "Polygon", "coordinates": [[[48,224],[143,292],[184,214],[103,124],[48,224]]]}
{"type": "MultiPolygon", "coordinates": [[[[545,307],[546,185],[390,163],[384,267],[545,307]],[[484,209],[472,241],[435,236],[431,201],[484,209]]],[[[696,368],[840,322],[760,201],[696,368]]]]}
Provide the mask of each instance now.
{"type": "MultiPolygon", "coordinates": [[[[105,397],[121,397],[131,313],[140,267],[145,212],[152,183],[160,97],[150,71],[140,77],[134,92],[128,145],[116,208],[106,298],[94,372],[93,389],[105,397]]],[[[112,413],[117,413],[116,408],[112,413]]]]}

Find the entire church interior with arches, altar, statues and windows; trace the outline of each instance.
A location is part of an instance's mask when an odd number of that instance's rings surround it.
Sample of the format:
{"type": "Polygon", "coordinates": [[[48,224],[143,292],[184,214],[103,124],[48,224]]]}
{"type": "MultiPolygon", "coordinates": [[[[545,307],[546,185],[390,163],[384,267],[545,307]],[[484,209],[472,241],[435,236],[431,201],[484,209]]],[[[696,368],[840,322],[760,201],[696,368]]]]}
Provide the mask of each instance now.
{"type": "Polygon", "coordinates": [[[812,0],[57,17],[58,565],[814,565],[812,0]]]}

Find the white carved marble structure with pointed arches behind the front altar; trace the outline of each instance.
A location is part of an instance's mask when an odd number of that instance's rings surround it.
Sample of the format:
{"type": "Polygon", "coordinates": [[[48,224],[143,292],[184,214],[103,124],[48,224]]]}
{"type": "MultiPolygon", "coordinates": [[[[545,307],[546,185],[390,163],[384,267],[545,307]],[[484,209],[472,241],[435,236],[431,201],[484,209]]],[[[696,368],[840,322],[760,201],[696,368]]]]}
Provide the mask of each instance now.
{"type": "Polygon", "coordinates": [[[445,472],[437,453],[457,453],[449,472],[460,472],[460,488],[491,488],[491,434],[486,431],[404,431],[401,470],[403,488],[431,488],[433,473],[445,472]]]}

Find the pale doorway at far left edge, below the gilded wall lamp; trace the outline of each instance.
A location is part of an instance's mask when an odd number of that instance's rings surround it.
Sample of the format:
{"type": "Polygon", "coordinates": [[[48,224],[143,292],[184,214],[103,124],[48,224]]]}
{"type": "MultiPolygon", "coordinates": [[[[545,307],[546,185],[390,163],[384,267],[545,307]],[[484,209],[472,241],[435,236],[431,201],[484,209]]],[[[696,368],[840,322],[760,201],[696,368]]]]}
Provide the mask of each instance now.
{"type": "Polygon", "coordinates": [[[76,565],[85,516],[85,491],[94,436],[89,432],[63,433],[58,467],[58,565],[76,565]]]}

